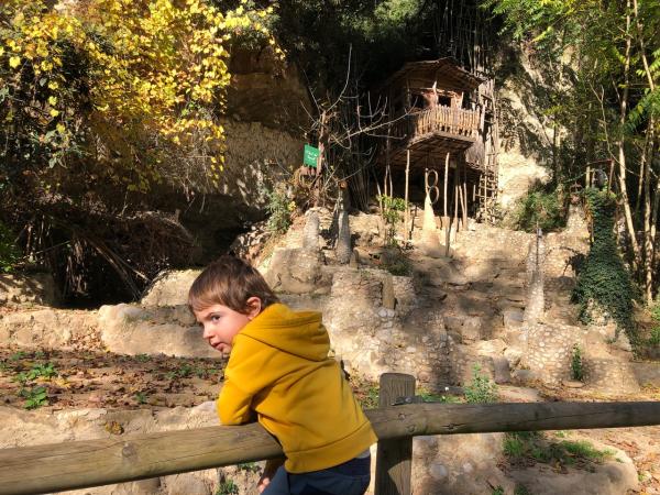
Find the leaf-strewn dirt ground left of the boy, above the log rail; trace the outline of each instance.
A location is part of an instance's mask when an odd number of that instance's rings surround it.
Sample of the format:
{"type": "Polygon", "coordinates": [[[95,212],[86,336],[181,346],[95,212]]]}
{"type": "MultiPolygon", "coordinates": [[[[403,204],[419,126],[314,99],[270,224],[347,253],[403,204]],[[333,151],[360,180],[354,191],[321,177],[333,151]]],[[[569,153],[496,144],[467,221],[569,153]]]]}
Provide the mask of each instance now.
{"type": "Polygon", "coordinates": [[[218,395],[224,364],[222,359],[0,346],[0,394],[6,406],[51,410],[196,406],[218,395]],[[30,404],[38,387],[46,396],[30,404]]]}

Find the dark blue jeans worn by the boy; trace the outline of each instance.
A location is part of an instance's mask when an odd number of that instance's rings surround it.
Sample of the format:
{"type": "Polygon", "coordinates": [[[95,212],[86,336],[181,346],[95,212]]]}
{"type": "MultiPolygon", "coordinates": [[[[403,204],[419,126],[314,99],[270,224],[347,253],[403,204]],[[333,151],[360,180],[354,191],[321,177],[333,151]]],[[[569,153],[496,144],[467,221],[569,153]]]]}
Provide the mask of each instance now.
{"type": "Polygon", "coordinates": [[[279,466],[262,495],[363,495],[371,480],[371,457],[309,473],[287,473],[279,466]]]}

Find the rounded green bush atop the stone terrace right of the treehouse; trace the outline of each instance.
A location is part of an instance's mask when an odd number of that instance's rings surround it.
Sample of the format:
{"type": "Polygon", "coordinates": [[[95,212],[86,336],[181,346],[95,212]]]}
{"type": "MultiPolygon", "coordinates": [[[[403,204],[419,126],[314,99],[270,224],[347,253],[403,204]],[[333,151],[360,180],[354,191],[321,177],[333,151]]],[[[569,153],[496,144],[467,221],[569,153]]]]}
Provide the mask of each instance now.
{"type": "Polygon", "coordinates": [[[543,232],[564,227],[564,209],[558,191],[547,191],[542,187],[529,190],[518,200],[514,212],[514,222],[517,229],[526,232],[536,232],[537,226],[543,232]]]}

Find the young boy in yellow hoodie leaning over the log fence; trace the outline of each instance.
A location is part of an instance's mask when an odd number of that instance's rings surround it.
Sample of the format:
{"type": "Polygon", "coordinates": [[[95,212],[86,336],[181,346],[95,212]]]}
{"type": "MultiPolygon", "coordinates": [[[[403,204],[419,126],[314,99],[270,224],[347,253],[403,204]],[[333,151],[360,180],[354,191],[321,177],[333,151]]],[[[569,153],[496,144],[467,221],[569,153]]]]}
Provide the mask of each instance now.
{"type": "Polygon", "coordinates": [[[363,494],[369,447],[377,439],[339,364],[328,358],[321,315],[280,304],[255,268],[232,256],[197,277],[188,304],[208,343],[229,354],[220,421],[256,418],[284,450],[284,465],[266,463],[260,493],[363,494]]]}

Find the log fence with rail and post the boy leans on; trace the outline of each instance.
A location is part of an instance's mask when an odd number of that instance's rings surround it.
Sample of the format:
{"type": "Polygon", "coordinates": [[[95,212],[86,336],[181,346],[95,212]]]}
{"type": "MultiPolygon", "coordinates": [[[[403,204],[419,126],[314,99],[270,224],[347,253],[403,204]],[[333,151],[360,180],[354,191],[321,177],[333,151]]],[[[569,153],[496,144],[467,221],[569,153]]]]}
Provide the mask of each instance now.
{"type": "MultiPolygon", "coordinates": [[[[410,494],[413,437],[660,424],[660,403],[406,404],[410,375],[381,378],[375,492],[410,494]],[[404,403],[400,406],[392,406],[404,403]],[[386,407],[383,407],[383,406],[386,407]]],[[[258,424],[0,450],[0,494],[38,494],[261,461],[282,454],[258,424]]]]}

